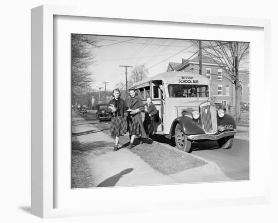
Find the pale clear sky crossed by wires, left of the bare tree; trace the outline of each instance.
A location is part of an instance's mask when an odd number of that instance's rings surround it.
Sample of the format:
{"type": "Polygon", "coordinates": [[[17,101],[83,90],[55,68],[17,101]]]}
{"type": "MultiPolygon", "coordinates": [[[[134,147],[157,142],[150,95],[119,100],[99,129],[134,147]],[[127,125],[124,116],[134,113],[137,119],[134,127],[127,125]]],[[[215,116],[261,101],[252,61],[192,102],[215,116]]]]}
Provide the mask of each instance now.
{"type": "MultiPolygon", "coordinates": [[[[95,63],[89,69],[94,82],[92,89],[103,87],[107,84],[108,90],[113,90],[116,85],[125,83],[125,67],[145,64],[149,70],[149,77],[166,72],[169,62],[181,63],[182,58],[188,59],[197,52],[196,46],[190,40],[138,38],[119,36],[96,36],[98,45],[94,48],[95,63]]],[[[195,57],[194,55],[192,59],[195,57]]],[[[127,76],[133,68],[127,68],[127,76]]],[[[127,78],[128,79],[128,78],[127,78]]]]}

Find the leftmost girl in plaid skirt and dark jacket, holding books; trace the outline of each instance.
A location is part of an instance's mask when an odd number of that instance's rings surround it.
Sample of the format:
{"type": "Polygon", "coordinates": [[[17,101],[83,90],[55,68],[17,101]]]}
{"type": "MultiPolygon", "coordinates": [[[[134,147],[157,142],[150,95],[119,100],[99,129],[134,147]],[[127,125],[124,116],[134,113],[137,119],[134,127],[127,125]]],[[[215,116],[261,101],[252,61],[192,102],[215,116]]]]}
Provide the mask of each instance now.
{"type": "Polygon", "coordinates": [[[114,117],[111,120],[110,134],[115,138],[115,146],[113,151],[118,150],[119,137],[126,134],[126,105],[125,101],[120,98],[121,92],[118,88],[112,92],[114,98],[109,101],[109,107],[112,110],[114,117]]]}

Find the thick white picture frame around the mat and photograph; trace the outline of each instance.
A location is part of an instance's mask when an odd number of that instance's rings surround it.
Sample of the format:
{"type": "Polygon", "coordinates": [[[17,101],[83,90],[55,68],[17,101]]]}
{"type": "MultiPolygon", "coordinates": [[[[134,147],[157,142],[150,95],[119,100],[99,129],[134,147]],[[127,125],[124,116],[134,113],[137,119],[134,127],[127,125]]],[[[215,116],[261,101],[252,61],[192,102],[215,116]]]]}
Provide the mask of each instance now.
{"type": "MultiPolygon", "coordinates": [[[[92,12],[90,9],[64,6],[44,5],[32,9],[31,11],[31,213],[42,217],[63,217],[80,216],[106,213],[128,213],[138,211],[156,211],[184,209],[189,207],[207,207],[207,206],[232,206],[265,204],[270,202],[271,198],[271,178],[270,178],[270,160],[271,160],[271,141],[263,141],[262,160],[265,170],[265,178],[262,179],[263,188],[258,190],[252,196],[239,195],[234,198],[218,197],[215,199],[172,199],[165,201],[157,200],[153,203],[138,202],[137,205],[128,204],[128,198],[118,204],[118,209],[108,208],[99,205],[98,207],[55,207],[56,175],[55,175],[55,134],[54,123],[56,120],[55,111],[55,78],[54,78],[54,16],[78,16],[82,18],[110,18],[120,20],[136,21],[157,21],[189,24],[203,24],[216,26],[238,26],[254,27],[263,29],[263,86],[266,88],[271,80],[270,75],[270,21],[265,19],[231,18],[216,16],[197,16],[188,14],[167,13],[142,13],[129,11],[106,12],[98,10],[92,12]],[[155,204],[155,205],[154,205],[155,204]],[[120,208],[119,208],[120,207],[120,208]]],[[[252,43],[251,43],[252,44],[252,43]]],[[[251,49],[252,50],[252,49],[251,49]]],[[[252,59],[251,59],[252,60],[252,59]]],[[[252,72],[252,71],[251,71],[252,72]]],[[[252,86],[251,86],[252,87],[252,86]]],[[[264,103],[271,104],[271,97],[263,96],[264,103]]],[[[252,103],[251,103],[252,104],[252,103]]],[[[271,106],[271,105],[270,105],[271,106]]],[[[252,109],[252,106],[251,106],[252,109]]],[[[263,113],[267,110],[263,108],[263,113]]],[[[269,106],[268,106],[269,109],[269,106]]],[[[265,119],[262,117],[262,119],[265,119]]],[[[251,117],[252,120],[252,117],[251,117]]],[[[263,130],[270,129],[270,123],[262,122],[263,130]]],[[[251,136],[254,133],[251,124],[251,136]],[[253,131],[253,132],[252,132],[253,131]]],[[[263,131],[263,137],[266,138],[266,131],[263,131]]],[[[252,139],[252,137],[251,137],[252,139]]],[[[255,165],[255,164],[254,164],[255,165]]],[[[252,170],[252,169],[251,169],[252,170]]],[[[252,181],[252,178],[251,180],[252,181]]],[[[200,185],[200,184],[199,184],[200,185]]],[[[70,185],[69,185],[70,187],[70,185]]],[[[151,186],[154,189],[156,186],[151,186]]],[[[169,188],[171,186],[167,186],[169,188]]],[[[182,188],[183,185],[178,185],[182,188]]],[[[130,188],[118,189],[123,192],[130,188]]],[[[136,187],[131,189],[131,193],[136,187]]],[[[155,190],[155,189],[154,189],[155,190]]],[[[106,191],[108,192],[108,190],[106,191]]],[[[113,202],[112,202],[113,203],[113,202]]]]}

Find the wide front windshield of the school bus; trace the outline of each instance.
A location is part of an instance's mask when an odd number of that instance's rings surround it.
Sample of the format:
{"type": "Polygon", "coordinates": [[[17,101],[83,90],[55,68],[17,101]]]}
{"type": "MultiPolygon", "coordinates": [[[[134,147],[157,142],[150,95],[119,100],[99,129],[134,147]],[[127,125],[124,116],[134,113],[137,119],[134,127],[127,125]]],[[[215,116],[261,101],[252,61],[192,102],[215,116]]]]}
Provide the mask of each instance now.
{"type": "Polygon", "coordinates": [[[208,97],[208,85],[169,84],[169,97],[208,97]]]}

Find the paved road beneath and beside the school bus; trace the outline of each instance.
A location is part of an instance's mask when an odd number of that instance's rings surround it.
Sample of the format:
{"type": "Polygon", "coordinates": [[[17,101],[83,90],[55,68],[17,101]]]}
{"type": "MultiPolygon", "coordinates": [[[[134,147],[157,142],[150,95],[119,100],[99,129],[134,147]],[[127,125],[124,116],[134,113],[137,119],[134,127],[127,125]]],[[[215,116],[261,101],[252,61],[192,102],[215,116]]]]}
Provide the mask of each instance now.
{"type": "MultiPolygon", "coordinates": [[[[99,128],[109,128],[110,122],[98,123],[95,113],[85,114],[87,120],[98,125],[99,128]]],[[[235,180],[249,180],[249,127],[239,126],[234,145],[230,149],[218,148],[216,142],[202,142],[194,145],[192,154],[215,162],[230,178],[235,180]]],[[[173,140],[155,135],[154,140],[175,147],[173,140]]]]}

